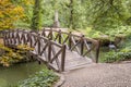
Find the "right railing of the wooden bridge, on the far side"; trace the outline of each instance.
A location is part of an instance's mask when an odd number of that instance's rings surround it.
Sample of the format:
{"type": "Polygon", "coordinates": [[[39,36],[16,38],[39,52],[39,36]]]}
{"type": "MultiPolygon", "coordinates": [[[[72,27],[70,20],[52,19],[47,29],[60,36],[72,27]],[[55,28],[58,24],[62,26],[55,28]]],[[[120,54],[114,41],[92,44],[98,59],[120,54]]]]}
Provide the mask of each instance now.
{"type": "Polygon", "coordinates": [[[84,37],[84,35],[76,35],[73,33],[55,30],[52,28],[44,28],[40,33],[41,37],[47,37],[57,44],[66,45],[71,51],[76,51],[79,54],[93,59],[94,62],[98,62],[99,55],[99,41],[84,37]]]}

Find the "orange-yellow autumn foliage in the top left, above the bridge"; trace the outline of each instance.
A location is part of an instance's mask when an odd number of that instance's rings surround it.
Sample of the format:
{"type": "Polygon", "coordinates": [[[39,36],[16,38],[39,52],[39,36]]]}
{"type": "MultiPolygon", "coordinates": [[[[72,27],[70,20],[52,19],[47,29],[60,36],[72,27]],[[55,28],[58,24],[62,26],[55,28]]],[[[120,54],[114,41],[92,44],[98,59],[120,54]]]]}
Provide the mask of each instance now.
{"type": "Polygon", "coordinates": [[[0,29],[13,28],[13,23],[24,16],[24,9],[10,0],[0,0],[0,29]]]}

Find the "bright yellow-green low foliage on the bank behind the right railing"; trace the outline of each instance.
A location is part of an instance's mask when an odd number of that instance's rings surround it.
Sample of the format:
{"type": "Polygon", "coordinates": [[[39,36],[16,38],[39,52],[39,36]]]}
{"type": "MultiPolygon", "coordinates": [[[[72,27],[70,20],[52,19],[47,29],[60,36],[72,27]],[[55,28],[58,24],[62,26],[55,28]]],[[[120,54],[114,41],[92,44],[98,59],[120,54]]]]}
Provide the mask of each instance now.
{"type": "Polygon", "coordinates": [[[126,38],[131,35],[131,26],[119,26],[115,29],[106,30],[105,33],[95,30],[93,27],[86,27],[85,29],[79,29],[86,37],[96,38],[99,40],[115,41],[117,37],[126,38]]]}

